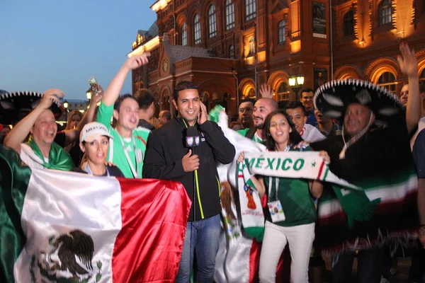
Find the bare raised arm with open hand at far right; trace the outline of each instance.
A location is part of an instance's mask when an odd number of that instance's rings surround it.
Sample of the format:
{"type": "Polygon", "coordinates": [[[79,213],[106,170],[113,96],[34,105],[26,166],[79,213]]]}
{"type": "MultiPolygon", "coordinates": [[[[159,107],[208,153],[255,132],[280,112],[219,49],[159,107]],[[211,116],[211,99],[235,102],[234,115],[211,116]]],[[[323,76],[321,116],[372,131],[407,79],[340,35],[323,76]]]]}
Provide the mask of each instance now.
{"type": "Polygon", "coordinates": [[[397,56],[402,73],[409,81],[409,98],[407,99],[406,124],[407,131],[411,133],[418,125],[421,118],[421,98],[419,97],[418,60],[414,50],[407,43],[400,44],[401,55],[397,56]]]}

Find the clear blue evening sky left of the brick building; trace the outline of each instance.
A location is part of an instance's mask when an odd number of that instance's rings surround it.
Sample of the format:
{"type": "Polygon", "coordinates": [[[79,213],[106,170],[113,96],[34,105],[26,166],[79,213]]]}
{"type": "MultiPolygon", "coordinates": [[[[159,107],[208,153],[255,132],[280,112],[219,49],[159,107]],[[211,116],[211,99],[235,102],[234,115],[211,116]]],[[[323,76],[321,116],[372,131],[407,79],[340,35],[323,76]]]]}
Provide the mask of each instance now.
{"type": "MultiPolygon", "coordinates": [[[[106,89],[137,30],[157,18],[154,0],[0,0],[0,89],[60,88],[85,99],[89,78],[106,89]]],[[[122,93],[131,93],[131,75],[122,93]]]]}

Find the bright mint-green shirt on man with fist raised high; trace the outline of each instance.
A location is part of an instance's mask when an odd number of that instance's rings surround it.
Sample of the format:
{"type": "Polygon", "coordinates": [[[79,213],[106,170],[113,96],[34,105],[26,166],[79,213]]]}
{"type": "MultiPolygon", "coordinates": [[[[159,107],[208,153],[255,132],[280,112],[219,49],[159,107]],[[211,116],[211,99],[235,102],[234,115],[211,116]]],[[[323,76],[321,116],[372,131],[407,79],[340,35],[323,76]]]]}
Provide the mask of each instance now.
{"type": "Polygon", "coordinates": [[[142,178],[142,168],[143,168],[143,159],[145,158],[147,137],[149,137],[149,129],[143,127],[137,127],[132,132],[132,138],[122,137],[118,132],[111,126],[111,119],[113,116],[113,105],[106,106],[103,103],[99,106],[97,114],[97,122],[102,123],[108,127],[109,133],[113,137],[109,144],[108,151],[108,161],[111,161],[115,164],[120,171],[123,172],[125,178],[142,178]],[[135,146],[134,146],[135,145],[135,146]],[[132,173],[130,164],[128,163],[128,158],[125,154],[126,149],[128,157],[132,163],[132,168],[137,171],[137,176],[135,177],[132,173]],[[142,158],[140,162],[136,164],[136,151],[140,150],[142,152],[142,158]]]}

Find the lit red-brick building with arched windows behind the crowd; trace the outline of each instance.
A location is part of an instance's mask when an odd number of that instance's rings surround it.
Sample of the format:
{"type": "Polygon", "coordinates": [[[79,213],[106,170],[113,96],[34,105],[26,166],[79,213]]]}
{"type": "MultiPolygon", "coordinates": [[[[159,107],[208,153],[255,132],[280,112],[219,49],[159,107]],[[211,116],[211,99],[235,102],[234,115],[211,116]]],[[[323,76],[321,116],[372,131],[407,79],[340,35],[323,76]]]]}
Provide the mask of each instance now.
{"type": "Polygon", "coordinates": [[[157,21],[139,30],[128,54],[152,54],[147,66],[132,72],[132,91],[148,87],[158,110],[171,109],[176,83],[191,80],[209,108],[228,97],[233,113],[237,100],[256,96],[261,83],[272,86],[276,100],[296,99],[288,79],[299,74],[304,87],[353,77],[398,93],[406,80],[396,60],[400,40],[415,48],[424,74],[424,3],[158,0],[151,6],[157,21]]]}

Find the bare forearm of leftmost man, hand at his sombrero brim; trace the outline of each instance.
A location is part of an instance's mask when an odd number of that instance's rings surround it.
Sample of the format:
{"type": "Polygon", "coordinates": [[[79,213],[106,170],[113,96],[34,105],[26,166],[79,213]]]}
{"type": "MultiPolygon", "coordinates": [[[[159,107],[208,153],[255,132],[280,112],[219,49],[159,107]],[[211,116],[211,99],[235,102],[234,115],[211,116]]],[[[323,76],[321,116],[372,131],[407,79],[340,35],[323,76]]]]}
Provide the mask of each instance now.
{"type": "Polygon", "coordinates": [[[24,117],[18,124],[13,127],[11,132],[4,139],[4,146],[10,147],[15,150],[18,154],[21,154],[21,144],[25,141],[26,137],[30,133],[31,127],[33,127],[35,120],[37,120],[40,114],[50,108],[53,102],[59,104],[60,98],[64,97],[64,93],[56,88],[45,91],[38,106],[24,117]]]}

